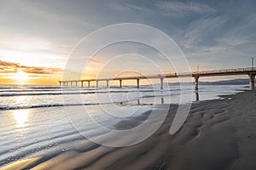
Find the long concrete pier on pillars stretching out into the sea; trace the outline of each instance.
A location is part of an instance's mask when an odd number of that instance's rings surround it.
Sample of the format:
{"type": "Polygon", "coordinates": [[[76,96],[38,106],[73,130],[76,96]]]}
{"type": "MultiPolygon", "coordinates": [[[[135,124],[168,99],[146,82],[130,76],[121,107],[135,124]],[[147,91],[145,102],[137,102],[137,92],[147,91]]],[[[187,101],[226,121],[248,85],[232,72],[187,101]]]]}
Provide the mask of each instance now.
{"type": "Polygon", "coordinates": [[[99,82],[106,82],[106,87],[109,87],[109,81],[119,81],[119,87],[122,88],[122,81],[135,80],[137,81],[137,88],[140,87],[140,80],[143,79],[159,79],[160,89],[164,88],[165,78],[177,78],[177,77],[194,77],[195,79],[195,90],[198,90],[198,82],[200,77],[219,77],[219,76],[241,76],[247,75],[249,77],[250,89],[254,90],[254,79],[256,75],[256,67],[247,68],[236,68],[236,69],[223,69],[223,70],[212,70],[212,71],[193,71],[193,72],[181,72],[181,73],[167,73],[158,75],[148,76],[130,76],[130,77],[113,77],[113,78],[95,78],[95,79],[84,79],[84,80],[69,80],[59,81],[60,86],[78,86],[80,82],[81,87],[84,87],[84,82],[87,82],[87,87],[90,87],[90,82],[96,82],[96,87],[99,86],[99,82]]]}

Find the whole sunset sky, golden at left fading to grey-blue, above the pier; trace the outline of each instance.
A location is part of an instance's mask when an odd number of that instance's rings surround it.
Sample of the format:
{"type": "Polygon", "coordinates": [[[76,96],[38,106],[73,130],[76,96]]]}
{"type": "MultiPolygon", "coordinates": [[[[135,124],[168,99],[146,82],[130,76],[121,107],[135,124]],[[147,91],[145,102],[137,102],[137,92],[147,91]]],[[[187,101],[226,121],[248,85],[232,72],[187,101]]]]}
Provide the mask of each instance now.
{"type": "MultiPolygon", "coordinates": [[[[58,84],[84,37],[105,26],[122,23],[151,26],[171,37],[191,71],[196,71],[197,65],[201,71],[250,67],[252,57],[256,58],[253,0],[0,0],[0,3],[0,83],[3,84],[22,81],[58,84]],[[26,78],[17,78],[20,72],[26,78]]],[[[131,33],[129,29],[122,31],[131,33]]],[[[94,42],[102,42],[104,38],[108,35],[97,37],[94,42]]],[[[138,32],[137,38],[161,42],[150,31],[147,36],[138,32]]],[[[85,48],[95,48],[94,42],[85,48]]],[[[83,53],[72,60],[74,70],[75,65],[85,65],[90,58],[90,54],[83,53]]],[[[102,48],[90,58],[82,74],[83,78],[91,78],[116,77],[122,72],[166,73],[175,71],[175,67],[186,70],[182,65],[165,65],[166,61],[161,59],[159,51],[147,44],[119,42],[102,48]]],[[[211,77],[207,81],[221,78],[211,77]]]]}

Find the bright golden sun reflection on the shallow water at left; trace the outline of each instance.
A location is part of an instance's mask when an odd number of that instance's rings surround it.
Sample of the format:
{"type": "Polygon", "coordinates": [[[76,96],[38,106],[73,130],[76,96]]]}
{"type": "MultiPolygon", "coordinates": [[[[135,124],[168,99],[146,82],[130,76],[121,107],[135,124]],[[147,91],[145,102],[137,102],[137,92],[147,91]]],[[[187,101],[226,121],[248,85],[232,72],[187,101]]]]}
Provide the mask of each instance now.
{"type": "Polygon", "coordinates": [[[26,127],[29,120],[29,110],[14,111],[15,126],[18,128],[26,127]]]}

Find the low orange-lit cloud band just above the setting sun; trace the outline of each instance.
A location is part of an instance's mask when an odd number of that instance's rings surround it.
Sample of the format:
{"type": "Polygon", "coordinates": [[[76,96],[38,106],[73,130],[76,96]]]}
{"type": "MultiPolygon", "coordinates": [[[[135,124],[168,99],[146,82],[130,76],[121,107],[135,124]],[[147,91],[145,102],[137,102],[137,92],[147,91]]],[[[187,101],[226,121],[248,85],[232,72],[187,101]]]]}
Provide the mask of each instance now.
{"type": "Polygon", "coordinates": [[[0,60],[0,73],[15,73],[17,71],[24,71],[26,73],[38,75],[59,75],[61,74],[62,69],[48,67],[32,67],[20,65],[19,63],[0,60]]]}

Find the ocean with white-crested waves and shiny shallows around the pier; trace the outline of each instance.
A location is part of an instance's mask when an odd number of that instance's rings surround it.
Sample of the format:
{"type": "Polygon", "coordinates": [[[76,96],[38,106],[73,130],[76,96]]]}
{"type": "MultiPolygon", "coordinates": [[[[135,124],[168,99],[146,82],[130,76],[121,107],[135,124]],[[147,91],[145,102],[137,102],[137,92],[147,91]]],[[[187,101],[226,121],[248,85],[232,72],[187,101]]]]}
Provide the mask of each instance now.
{"type": "MultiPolygon", "coordinates": [[[[169,105],[221,99],[236,94],[245,85],[177,86],[159,85],[123,88],[80,88],[38,85],[0,85],[0,167],[37,156],[55,156],[75,150],[86,139],[73,127],[70,116],[83,123],[90,136],[100,132],[89,120],[76,114],[83,107],[103,126],[114,128],[121,120],[150,111],[154,105],[169,105]],[[183,101],[180,101],[183,96],[183,101]],[[73,112],[67,114],[67,108],[73,112]],[[108,114],[106,114],[108,113],[108,114]],[[115,118],[111,118],[112,116],[115,118]]],[[[72,119],[72,120],[74,120],[72,119]]]]}

